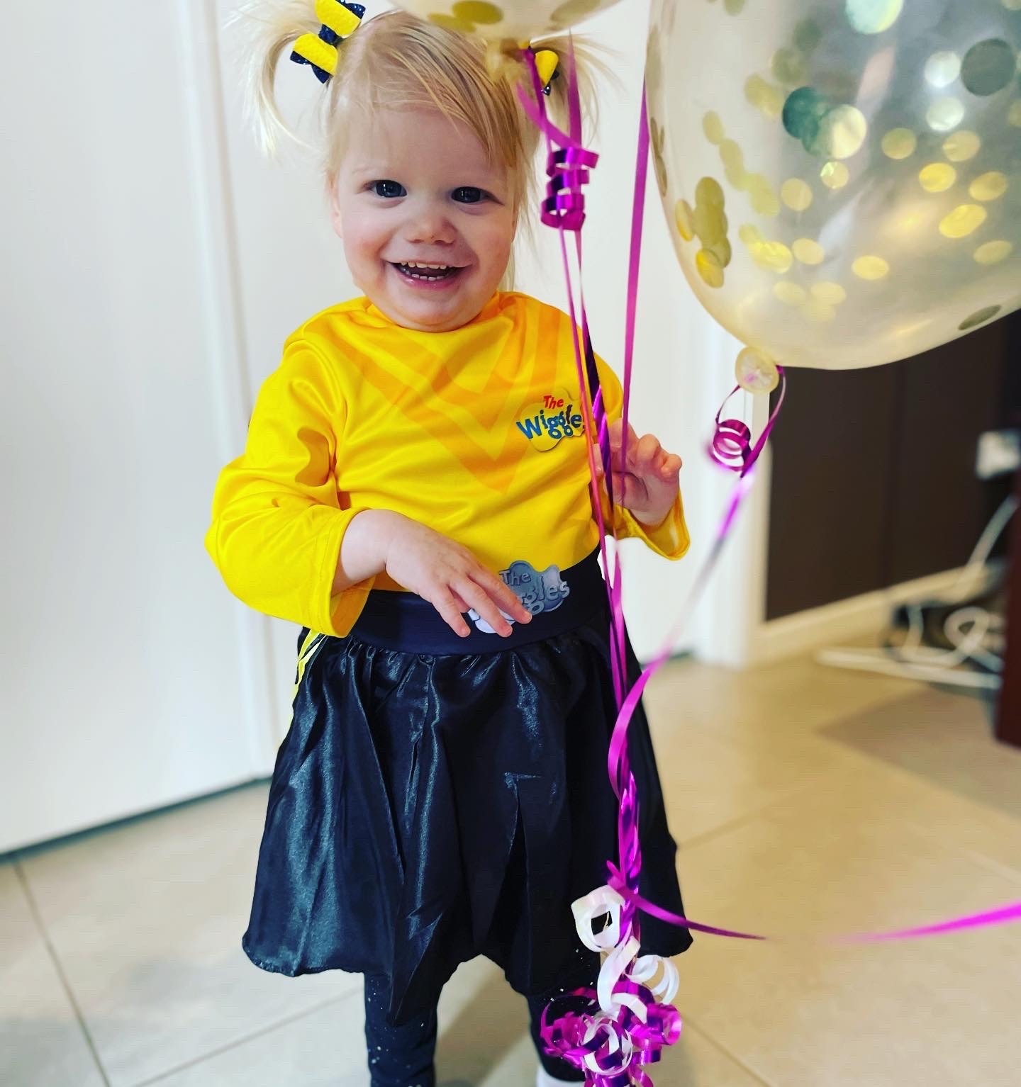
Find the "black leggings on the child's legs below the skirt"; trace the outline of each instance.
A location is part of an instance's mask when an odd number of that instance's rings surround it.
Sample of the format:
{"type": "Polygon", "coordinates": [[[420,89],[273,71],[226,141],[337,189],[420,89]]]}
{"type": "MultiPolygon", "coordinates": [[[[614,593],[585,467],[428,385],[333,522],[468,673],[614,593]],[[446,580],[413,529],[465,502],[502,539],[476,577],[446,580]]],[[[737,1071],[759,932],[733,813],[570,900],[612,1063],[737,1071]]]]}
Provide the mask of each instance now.
{"type": "MultiPolygon", "coordinates": [[[[365,978],[365,1044],[372,1087],[436,1087],[436,1009],[402,1026],[387,1026],[385,979],[365,978]]],[[[543,1009],[548,997],[528,997],[532,1040],[543,1067],[557,1079],[582,1083],[585,1076],[564,1061],[547,1057],[539,1040],[543,1009]]],[[[558,1001],[560,1007],[566,1002],[558,1001]]]]}

